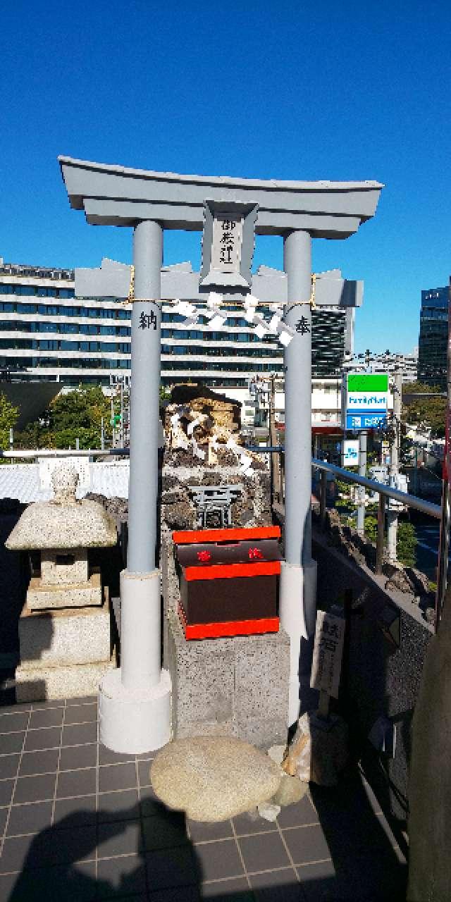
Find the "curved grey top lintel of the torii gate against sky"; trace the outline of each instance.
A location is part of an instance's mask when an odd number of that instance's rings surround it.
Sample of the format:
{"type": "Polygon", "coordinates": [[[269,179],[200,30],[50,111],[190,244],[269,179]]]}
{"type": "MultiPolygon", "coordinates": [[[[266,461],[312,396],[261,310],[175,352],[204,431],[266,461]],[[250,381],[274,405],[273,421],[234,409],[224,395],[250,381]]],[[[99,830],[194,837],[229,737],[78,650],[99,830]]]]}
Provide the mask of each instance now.
{"type": "Polygon", "coordinates": [[[60,156],[70,206],[93,226],[134,226],[156,219],[167,229],[201,231],[204,201],[258,205],[258,235],[293,229],[314,238],[347,238],[374,215],[378,181],[281,181],[179,175],[60,156]]]}

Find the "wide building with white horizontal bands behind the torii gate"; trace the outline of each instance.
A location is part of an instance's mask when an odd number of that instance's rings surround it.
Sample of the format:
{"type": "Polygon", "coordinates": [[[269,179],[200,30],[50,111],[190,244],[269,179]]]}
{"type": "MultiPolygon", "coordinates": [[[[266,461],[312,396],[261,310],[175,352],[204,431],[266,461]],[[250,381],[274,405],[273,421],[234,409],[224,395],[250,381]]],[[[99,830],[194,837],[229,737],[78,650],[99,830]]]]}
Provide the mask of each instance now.
{"type": "MultiPolygon", "coordinates": [[[[169,268],[170,269],[170,268],[169,268]]],[[[163,268],[164,272],[164,268],[163,268]]],[[[187,327],[170,303],[162,305],[161,381],[202,380],[247,393],[250,376],[283,375],[283,348],[275,336],[259,339],[238,304],[227,304],[224,327],[207,319],[187,327]]],[[[341,372],[352,345],[354,310],[312,313],[312,372],[341,372]]],[[[23,380],[108,384],[130,373],[131,305],[111,298],[75,297],[74,272],[0,258],[0,370],[23,380]]]]}

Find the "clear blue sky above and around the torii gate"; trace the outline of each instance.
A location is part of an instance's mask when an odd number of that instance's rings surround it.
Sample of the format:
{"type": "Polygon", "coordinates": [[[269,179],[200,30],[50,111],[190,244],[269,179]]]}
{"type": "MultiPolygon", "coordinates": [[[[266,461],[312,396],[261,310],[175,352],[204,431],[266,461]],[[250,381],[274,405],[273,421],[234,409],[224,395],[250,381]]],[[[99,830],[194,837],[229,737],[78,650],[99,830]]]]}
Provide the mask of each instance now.
{"type": "MultiPolygon", "coordinates": [[[[0,26],[0,256],[130,261],[129,229],[69,208],[58,154],[153,170],[377,179],[376,216],[313,243],[317,272],[364,279],[356,350],[418,344],[420,290],[451,273],[451,5],[5,4],[0,26]]],[[[165,234],[165,262],[200,235],[165,234]]],[[[281,239],[255,262],[282,265],[281,239]]]]}

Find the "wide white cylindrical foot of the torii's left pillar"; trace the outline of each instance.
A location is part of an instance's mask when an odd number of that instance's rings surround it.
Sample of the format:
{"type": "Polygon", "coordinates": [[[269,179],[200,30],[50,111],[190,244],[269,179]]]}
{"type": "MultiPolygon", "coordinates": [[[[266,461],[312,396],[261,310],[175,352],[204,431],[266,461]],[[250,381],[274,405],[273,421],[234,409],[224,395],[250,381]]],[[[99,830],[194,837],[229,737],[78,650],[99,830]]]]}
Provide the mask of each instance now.
{"type": "Polygon", "coordinates": [[[161,670],[157,686],[124,688],[121,670],[104,676],[99,687],[99,738],[107,749],[139,755],[161,749],[171,739],[170,674],[161,670]]]}

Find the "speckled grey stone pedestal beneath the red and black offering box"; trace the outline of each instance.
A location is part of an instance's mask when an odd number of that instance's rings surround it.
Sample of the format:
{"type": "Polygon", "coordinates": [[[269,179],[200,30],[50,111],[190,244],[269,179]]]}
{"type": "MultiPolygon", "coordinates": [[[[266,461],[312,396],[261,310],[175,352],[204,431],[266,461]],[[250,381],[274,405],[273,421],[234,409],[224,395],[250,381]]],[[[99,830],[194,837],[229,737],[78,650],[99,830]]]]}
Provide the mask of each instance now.
{"type": "Polygon", "coordinates": [[[265,750],[286,743],[290,640],[283,630],[187,641],[169,612],[167,666],[174,739],[236,736],[265,750]]]}

